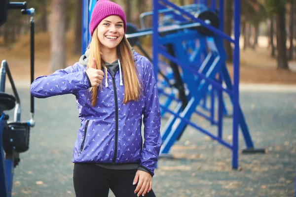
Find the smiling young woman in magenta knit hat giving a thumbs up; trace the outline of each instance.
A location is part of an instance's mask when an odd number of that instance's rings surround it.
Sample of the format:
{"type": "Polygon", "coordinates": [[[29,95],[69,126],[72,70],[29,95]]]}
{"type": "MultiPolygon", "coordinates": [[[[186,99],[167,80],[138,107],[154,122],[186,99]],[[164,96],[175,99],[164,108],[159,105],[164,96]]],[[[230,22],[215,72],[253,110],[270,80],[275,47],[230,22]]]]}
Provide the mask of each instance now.
{"type": "Polygon", "coordinates": [[[152,66],[132,51],[118,4],[97,1],[89,31],[92,40],[79,62],[38,77],[31,94],[76,97],[81,119],[73,151],[77,197],[108,197],[109,189],[116,197],[155,197],[152,176],[161,135],[152,66]]]}

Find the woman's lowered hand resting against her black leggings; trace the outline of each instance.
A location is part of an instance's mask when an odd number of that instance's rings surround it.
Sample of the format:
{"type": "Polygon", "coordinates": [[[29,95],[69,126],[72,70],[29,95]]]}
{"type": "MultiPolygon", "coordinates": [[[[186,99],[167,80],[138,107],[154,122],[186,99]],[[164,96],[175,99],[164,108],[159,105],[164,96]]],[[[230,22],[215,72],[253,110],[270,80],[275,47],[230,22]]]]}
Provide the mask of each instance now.
{"type": "Polygon", "coordinates": [[[138,197],[141,195],[144,197],[152,189],[152,176],[148,172],[138,170],[133,185],[137,183],[135,194],[138,193],[138,197]]]}

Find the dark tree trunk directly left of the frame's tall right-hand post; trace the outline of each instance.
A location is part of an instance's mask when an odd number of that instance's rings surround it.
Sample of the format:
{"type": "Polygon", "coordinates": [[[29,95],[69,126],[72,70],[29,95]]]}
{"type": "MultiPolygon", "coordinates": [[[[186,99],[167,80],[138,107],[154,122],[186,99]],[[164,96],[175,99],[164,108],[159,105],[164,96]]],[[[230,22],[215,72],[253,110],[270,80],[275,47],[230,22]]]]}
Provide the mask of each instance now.
{"type": "MultiPolygon", "coordinates": [[[[224,32],[231,36],[232,34],[232,4],[233,0],[225,0],[224,32]]],[[[227,62],[232,62],[232,47],[229,41],[224,40],[224,48],[227,54],[227,62]]]]}

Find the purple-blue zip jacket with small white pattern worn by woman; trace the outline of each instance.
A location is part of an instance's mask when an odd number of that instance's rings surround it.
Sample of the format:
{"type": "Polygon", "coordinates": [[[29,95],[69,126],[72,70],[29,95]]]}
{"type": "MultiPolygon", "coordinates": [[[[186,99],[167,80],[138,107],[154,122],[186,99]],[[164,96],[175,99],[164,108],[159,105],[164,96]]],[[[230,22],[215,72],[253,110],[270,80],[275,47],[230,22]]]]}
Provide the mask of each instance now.
{"type": "Polygon", "coordinates": [[[161,146],[156,80],[148,59],[136,52],[133,56],[138,77],[143,82],[142,96],[138,101],[122,103],[124,86],[119,84],[117,70],[114,76],[110,71],[105,73],[96,105],[91,106],[88,91],[91,85],[86,66],[79,63],[51,75],[37,77],[31,84],[31,94],[36,98],[75,95],[81,127],[74,143],[73,163],[140,163],[154,175],[161,146]],[[108,87],[104,83],[106,74],[108,87]]]}

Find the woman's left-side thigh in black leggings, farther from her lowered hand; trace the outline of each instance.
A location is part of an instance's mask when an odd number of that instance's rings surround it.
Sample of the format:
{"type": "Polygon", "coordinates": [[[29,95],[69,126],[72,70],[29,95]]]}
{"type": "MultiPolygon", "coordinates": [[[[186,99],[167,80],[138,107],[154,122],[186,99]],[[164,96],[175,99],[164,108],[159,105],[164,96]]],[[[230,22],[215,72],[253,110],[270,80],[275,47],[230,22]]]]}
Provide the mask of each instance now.
{"type": "Polygon", "coordinates": [[[76,197],[108,197],[109,170],[95,164],[74,164],[74,190],[76,197]]]}

